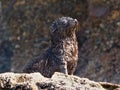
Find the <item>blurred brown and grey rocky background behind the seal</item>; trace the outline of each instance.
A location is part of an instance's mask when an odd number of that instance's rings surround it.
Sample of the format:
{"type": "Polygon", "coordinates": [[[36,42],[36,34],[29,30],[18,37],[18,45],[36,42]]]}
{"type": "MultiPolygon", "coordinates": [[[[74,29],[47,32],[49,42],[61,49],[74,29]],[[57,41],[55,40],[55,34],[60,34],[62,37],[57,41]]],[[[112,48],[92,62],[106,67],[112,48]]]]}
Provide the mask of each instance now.
{"type": "Polygon", "coordinates": [[[78,19],[75,75],[120,84],[120,0],[0,0],[0,72],[20,72],[61,16],[78,19]]]}

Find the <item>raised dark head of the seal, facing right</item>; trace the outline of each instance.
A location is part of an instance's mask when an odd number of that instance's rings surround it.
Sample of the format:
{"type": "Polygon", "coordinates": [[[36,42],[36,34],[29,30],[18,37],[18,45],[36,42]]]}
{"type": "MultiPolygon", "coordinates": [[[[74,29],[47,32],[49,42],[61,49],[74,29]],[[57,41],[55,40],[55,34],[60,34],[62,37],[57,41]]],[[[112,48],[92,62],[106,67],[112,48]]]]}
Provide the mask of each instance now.
{"type": "Polygon", "coordinates": [[[62,17],[55,20],[50,27],[50,34],[52,36],[58,35],[65,38],[77,30],[78,21],[70,17],[62,17]]]}

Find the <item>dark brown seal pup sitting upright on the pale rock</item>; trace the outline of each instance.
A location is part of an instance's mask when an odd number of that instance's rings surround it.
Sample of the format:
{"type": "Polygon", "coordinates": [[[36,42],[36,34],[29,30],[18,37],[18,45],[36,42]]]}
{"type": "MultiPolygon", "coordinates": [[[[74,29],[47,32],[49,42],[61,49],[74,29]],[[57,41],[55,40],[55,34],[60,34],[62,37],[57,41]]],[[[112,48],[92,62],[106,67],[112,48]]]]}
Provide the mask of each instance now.
{"type": "Polygon", "coordinates": [[[50,30],[51,45],[42,55],[30,61],[23,72],[40,72],[45,77],[51,77],[54,72],[73,74],[78,60],[77,27],[78,21],[70,17],[54,21],[50,30]]]}

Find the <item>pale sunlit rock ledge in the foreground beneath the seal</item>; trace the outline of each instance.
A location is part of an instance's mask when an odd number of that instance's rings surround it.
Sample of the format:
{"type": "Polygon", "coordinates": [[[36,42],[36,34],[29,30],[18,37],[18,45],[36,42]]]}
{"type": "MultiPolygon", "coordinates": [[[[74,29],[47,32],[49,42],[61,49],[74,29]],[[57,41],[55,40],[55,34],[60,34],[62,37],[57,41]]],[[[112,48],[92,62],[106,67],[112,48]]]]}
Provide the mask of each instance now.
{"type": "Polygon", "coordinates": [[[58,72],[52,78],[45,78],[40,73],[3,73],[0,74],[0,90],[120,90],[120,85],[58,72]]]}

